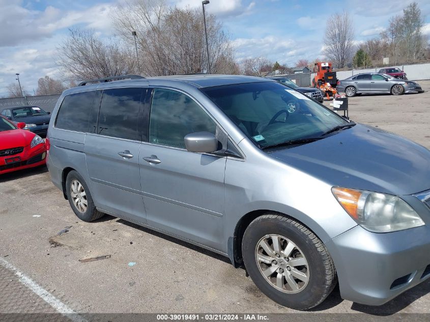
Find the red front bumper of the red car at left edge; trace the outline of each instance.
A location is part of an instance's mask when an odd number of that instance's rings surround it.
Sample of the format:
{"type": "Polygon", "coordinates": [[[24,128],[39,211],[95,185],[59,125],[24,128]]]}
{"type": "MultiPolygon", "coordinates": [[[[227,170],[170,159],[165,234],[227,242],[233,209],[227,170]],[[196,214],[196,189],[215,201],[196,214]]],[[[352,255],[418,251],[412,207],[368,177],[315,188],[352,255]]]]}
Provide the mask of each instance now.
{"type": "Polygon", "coordinates": [[[44,165],[46,163],[46,145],[41,143],[33,149],[30,145],[24,147],[24,150],[15,155],[0,157],[0,174],[8,173],[16,170],[27,169],[44,165]],[[20,160],[13,163],[6,163],[6,159],[19,157],[20,160]]]}

